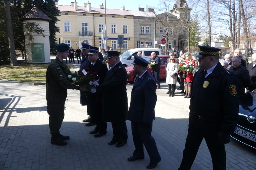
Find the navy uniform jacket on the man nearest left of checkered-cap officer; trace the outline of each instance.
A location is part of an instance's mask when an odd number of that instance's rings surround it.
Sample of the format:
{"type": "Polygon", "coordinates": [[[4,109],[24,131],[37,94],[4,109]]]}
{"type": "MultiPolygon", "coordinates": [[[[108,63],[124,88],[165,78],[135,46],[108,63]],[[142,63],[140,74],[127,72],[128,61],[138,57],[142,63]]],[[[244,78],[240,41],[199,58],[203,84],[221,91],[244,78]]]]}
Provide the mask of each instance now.
{"type": "Polygon", "coordinates": [[[155,91],[155,79],[146,71],[141,79],[135,81],[133,85],[127,120],[152,124],[153,119],[155,119],[157,101],[155,91]]]}

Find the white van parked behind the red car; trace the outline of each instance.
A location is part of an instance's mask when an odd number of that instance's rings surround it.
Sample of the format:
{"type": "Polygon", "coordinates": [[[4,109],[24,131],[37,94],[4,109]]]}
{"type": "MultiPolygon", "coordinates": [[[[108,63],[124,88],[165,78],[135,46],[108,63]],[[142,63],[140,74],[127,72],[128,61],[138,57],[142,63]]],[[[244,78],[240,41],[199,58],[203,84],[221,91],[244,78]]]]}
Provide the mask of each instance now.
{"type": "Polygon", "coordinates": [[[149,56],[152,52],[155,52],[156,55],[162,55],[161,50],[159,48],[133,48],[131,50],[125,51],[123,54],[120,55],[120,61],[123,65],[130,66],[133,63],[134,56],[137,53],[141,52],[142,56],[149,56]]]}

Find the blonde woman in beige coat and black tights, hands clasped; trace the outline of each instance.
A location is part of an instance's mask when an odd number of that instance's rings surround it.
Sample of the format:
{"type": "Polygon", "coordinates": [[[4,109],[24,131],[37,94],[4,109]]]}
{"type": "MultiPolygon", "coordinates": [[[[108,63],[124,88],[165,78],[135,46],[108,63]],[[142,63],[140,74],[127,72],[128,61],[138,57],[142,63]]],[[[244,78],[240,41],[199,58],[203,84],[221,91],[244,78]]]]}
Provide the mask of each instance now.
{"type": "Polygon", "coordinates": [[[170,56],[169,63],[166,67],[166,83],[168,84],[169,97],[174,97],[174,91],[177,83],[177,63],[175,63],[175,57],[170,56]]]}

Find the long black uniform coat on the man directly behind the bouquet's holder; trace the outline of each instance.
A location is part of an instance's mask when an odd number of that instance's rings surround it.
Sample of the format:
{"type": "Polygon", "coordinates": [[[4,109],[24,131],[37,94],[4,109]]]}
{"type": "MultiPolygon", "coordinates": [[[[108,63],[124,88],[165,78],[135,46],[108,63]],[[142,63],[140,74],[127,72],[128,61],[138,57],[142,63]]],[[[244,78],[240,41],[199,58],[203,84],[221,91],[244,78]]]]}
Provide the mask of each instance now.
{"type": "Polygon", "coordinates": [[[103,120],[106,122],[125,121],[128,112],[126,92],[127,72],[121,62],[112,67],[105,76],[104,82],[96,87],[101,92],[103,120]]]}

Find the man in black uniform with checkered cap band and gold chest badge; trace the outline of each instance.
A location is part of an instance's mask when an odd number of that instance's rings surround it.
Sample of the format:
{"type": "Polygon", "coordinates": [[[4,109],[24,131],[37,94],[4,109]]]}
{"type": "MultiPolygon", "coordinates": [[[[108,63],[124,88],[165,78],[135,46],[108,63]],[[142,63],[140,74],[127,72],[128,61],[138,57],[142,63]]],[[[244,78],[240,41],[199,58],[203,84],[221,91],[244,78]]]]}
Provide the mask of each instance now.
{"type": "Polygon", "coordinates": [[[212,156],[213,169],[225,170],[224,144],[229,143],[229,135],[238,122],[237,79],[218,62],[220,49],[198,47],[201,51],[196,57],[201,69],[192,82],[188,133],[179,170],[191,168],[203,138],[212,156]]]}

